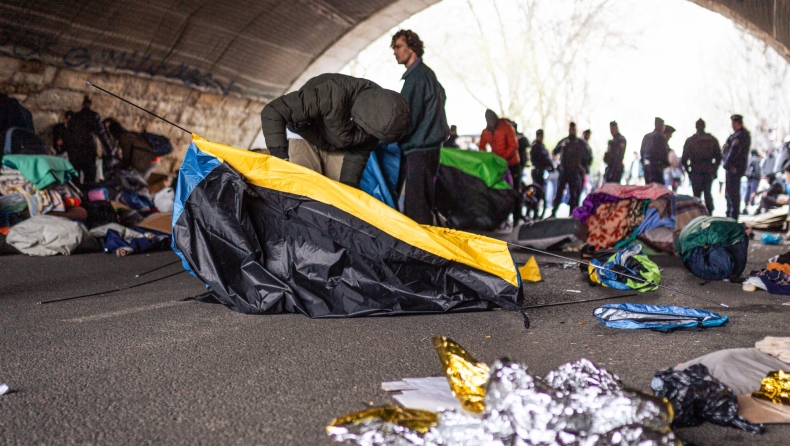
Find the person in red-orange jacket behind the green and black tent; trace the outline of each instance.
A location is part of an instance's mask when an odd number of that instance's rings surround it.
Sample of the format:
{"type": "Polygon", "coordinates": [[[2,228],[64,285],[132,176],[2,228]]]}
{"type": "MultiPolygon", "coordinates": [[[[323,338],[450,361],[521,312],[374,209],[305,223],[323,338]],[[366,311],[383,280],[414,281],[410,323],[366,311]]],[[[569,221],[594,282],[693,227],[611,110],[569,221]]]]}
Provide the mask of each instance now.
{"type": "MultiPolygon", "coordinates": [[[[513,178],[513,188],[518,190],[521,183],[521,163],[518,156],[518,139],[516,129],[507,119],[500,119],[493,110],[486,110],[486,128],[480,134],[480,151],[487,151],[486,146],[491,146],[491,152],[501,156],[507,161],[507,168],[513,178]]],[[[513,205],[513,226],[515,227],[521,215],[521,203],[513,205]]]]}

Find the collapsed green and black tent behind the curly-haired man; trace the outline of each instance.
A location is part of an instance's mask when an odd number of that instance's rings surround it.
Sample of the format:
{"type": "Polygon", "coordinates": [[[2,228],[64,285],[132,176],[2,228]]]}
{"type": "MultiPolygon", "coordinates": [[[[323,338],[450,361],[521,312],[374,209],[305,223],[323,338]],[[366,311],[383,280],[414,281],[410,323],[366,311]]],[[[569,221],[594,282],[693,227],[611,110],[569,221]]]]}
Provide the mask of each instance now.
{"type": "Polygon", "coordinates": [[[436,210],[455,229],[492,231],[520,199],[506,181],[507,161],[489,152],[443,148],[436,175],[436,210]]]}

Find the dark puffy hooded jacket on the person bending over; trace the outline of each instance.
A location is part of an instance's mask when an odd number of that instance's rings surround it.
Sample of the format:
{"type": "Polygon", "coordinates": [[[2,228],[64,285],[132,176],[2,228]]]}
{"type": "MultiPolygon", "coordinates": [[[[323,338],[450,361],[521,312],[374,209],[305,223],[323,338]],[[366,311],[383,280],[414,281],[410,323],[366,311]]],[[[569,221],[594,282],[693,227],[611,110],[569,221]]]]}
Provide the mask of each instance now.
{"type": "Polygon", "coordinates": [[[397,141],[408,123],[409,106],[401,94],[343,74],[316,76],[261,112],[270,149],[288,147],[288,126],[320,150],[373,150],[379,140],[397,141]]]}

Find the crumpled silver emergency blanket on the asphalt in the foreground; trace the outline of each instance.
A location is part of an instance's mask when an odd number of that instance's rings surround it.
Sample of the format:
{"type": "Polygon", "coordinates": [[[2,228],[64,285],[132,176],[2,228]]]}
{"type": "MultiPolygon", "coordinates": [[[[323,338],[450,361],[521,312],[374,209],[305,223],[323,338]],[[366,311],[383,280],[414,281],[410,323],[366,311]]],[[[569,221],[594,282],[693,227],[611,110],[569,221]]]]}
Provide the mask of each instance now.
{"type": "Polygon", "coordinates": [[[527,367],[496,361],[481,416],[442,411],[430,428],[366,418],[330,426],[337,441],[379,445],[680,445],[670,430],[666,400],[627,389],[587,359],[565,364],[545,378],[527,367]]]}

